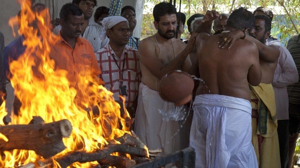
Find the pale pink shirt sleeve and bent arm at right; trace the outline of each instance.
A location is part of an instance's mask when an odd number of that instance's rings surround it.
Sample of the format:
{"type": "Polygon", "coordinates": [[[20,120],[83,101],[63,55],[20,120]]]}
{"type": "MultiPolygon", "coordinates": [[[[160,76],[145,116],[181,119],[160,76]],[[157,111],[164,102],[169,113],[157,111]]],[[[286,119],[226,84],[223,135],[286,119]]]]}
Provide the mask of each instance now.
{"type": "MultiPolygon", "coordinates": [[[[275,73],[272,85],[275,87],[286,87],[297,83],[299,75],[292,55],[286,48],[280,48],[282,54],[279,57],[278,64],[281,66],[282,73],[275,73]]],[[[276,72],[276,71],[275,71],[276,72]]]]}

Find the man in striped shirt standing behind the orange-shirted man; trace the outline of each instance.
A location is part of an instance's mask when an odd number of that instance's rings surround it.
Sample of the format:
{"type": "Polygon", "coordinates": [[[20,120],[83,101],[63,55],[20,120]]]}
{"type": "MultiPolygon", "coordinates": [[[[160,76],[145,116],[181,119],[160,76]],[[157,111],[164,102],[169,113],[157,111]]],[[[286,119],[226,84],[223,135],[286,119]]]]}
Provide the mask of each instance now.
{"type": "MultiPolygon", "coordinates": [[[[82,26],[80,37],[83,37],[91,43],[94,52],[100,50],[107,42],[108,38],[101,39],[104,34],[103,27],[97,24],[92,17],[94,7],[97,6],[96,0],[73,0],[73,4],[77,5],[84,15],[84,24],[82,26]]],[[[61,25],[53,29],[53,33],[58,35],[61,25]]]]}

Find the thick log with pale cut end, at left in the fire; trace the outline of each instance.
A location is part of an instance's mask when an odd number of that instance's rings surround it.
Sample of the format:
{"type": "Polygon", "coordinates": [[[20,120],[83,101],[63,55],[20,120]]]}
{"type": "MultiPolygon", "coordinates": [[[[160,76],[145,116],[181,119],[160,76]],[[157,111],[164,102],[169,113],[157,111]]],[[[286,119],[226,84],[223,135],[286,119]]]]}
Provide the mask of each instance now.
{"type": "Polygon", "coordinates": [[[69,120],[44,124],[37,117],[30,123],[32,124],[0,126],[0,133],[8,138],[8,142],[0,140],[0,151],[33,150],[36,154],[49,158],[65,149],[62,138],[69,137],[72,132],[69,120]]]}

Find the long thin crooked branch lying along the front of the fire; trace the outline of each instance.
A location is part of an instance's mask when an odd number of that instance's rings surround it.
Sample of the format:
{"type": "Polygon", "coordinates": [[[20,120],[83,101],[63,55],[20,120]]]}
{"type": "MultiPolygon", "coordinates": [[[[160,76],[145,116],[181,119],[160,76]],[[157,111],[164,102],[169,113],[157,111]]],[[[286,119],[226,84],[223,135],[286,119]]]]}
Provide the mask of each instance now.
{"type": "Polygon", "coordinates": [[[138,156],[147,155],[147,151],[144,148],[116,144],[116,145],[110,145],[104,147],[103,149],[93,153],[87,153],[83,151],[72,152],[61,157],[60,159],[57,160],[57,162],[62,168],[65,168],[74,162],[93,162],[97,160],[102,160],[109,157],[110,154],[114,152],[122,152],[131,155],[138,155],[138,156]]]}

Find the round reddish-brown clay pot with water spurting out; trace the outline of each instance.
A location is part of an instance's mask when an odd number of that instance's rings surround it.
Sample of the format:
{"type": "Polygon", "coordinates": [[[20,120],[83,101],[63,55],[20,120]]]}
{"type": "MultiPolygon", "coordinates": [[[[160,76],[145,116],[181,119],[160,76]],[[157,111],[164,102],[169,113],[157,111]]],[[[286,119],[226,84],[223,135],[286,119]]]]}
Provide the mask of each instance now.
{"type": "Polygon", "coordinates": [[[184,71],[176,70],[160,80],[157,90],[162,99],[181,106],[191,100],[193,88],[193,78],[184,71]]]}

